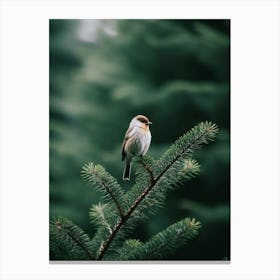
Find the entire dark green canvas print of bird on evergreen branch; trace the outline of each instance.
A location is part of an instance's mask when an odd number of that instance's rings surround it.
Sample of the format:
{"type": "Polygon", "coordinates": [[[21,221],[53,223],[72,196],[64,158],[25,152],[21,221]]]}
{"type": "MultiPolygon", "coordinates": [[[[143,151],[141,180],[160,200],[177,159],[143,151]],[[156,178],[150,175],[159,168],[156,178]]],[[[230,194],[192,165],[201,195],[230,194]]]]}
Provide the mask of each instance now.
{"type": "Polygon", "coordinates": [[[51,261],[230,261],[230,20],[49,21],[51,261]]]}

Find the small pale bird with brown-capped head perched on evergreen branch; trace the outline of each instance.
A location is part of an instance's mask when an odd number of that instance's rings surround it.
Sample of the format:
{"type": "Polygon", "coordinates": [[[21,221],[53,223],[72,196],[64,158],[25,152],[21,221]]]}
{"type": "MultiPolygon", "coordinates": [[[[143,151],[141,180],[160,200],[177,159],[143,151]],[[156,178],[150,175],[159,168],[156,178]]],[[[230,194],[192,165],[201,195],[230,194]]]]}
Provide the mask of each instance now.
{"type": "Polygon", "coordinates": [[[128,127],[122,144],[122,161],[125,160],[123,180],[130,180],[131,163],[134,156],[143,156],[147,153],[151,144],[152,124],[146,116],[137,115],[128,127]]]}

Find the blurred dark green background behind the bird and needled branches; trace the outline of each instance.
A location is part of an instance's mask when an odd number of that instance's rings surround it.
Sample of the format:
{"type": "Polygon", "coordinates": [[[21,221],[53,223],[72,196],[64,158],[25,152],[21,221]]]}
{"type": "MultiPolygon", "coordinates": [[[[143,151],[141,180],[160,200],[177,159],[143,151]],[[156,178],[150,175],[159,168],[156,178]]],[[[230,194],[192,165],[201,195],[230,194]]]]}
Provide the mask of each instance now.
{"type": "Polygon", "coordinates": [[[220,133],[194,156],[200,175],[132,237],[191,216],[200,235],[168,259],[230,260],[229,20],[50,20],[50,216],[94,234],[88,212],[99,194],[81,166],[100,163],[129,189],[121,144],[137,114],[153,122],[154,158],[200,121],[220,133]]]}

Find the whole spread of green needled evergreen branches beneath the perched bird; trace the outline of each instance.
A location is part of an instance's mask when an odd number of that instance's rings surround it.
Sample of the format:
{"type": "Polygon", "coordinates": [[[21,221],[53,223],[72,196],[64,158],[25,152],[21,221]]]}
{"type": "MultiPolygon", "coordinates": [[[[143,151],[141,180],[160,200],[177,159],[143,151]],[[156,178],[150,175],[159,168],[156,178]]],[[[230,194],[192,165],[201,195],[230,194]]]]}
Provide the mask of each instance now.
{"type": "Polygon", "coordinates": [[[54,260],[154,260],[168,255],[198,234],[200,222],[185,218],[141,242],[130,238],[137,222],[148,219],[164,204],[167,193],[199,172],[193,152],[212,141],[218,128],[202,122],[180,137],[158,159],[138,158],[136,181],[127,192],[101,165],[87,163],[81,176],[103,193],[90,208],[90,222],[96,228],[92,239],[64,218],[50,223],[50,250],[54,260]]]}

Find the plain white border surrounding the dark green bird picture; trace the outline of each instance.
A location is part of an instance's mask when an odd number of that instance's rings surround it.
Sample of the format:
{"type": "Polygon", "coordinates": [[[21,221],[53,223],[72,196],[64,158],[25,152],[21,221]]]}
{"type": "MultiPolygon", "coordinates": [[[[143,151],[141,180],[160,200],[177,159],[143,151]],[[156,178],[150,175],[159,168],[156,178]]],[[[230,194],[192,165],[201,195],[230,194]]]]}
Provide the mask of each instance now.
{"type": "Polygon", "coordinates": [[[1,279],[279,279],[279,2],[2,1],[1,279]],[[49,264],[48,19],[231,19],[231,264],[49,264]]]}

